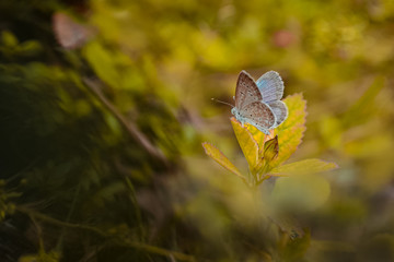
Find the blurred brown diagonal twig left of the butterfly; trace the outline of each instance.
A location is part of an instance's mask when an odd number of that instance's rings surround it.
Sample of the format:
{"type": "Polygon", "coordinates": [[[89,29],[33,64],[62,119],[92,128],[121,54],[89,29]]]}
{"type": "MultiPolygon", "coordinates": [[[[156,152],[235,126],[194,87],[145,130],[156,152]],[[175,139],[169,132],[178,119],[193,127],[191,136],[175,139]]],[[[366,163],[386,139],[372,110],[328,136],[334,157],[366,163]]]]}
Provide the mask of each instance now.
{"type": "Polygon", "coordinates": [[[83,78],[83,82],[90,88],[90,91],[103,103],[103,105],[115,116],[115,118],[121,123],[126,131],[139,143],[150,155],[167,165],[167,159],[158,147],[155,147],[147,136],[141,133],[138,128],[130,121],[126,120],[124,116],[116,109],[116,107],[103,95],[100,90],[97,81],[93,81],[88,78],[83,78]]]}

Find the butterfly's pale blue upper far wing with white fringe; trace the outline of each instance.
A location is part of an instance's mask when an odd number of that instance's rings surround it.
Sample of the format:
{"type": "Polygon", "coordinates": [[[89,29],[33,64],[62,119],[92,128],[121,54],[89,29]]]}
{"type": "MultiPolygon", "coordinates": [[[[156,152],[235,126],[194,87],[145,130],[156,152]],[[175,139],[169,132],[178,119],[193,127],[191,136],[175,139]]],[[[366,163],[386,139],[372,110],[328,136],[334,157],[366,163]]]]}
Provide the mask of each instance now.
{"type": "Polygon", "coordinates": [[[278,72],[266,72],[257,80],[256,84],[265,103],[280,100],[283,96],[285,85],[278,72]]]}

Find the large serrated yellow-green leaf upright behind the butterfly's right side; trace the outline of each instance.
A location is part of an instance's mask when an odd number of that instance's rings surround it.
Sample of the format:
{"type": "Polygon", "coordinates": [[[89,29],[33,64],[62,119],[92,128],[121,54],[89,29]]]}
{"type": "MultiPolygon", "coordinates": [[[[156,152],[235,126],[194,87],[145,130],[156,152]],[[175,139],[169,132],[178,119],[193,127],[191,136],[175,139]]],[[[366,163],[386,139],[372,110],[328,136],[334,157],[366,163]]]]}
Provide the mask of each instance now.
{"type": "Polygon", "coordinates": [[[283,99],[289,109],[289,116],[282,124],[276,130],[278,135],[279,154],[278,157],[270,163],[273,167],[280,165],[287,160],[301,144],[305,128],[306,102],[302,94],[288,96],[283,99]]]}

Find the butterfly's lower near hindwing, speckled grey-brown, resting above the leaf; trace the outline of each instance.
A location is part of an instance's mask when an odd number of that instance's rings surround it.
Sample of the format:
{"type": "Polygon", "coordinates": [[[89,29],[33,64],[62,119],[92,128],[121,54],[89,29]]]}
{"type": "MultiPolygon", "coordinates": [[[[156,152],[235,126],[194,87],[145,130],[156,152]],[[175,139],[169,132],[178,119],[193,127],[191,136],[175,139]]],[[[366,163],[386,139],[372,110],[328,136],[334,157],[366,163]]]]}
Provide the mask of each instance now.
{"type": "Polygon", "coordinates": [[[248,122],[255,126],[265,134],[269,134],[277,119],[269,106],[263,102],[253,102],[239,111],[241,122],[248,122]]]}

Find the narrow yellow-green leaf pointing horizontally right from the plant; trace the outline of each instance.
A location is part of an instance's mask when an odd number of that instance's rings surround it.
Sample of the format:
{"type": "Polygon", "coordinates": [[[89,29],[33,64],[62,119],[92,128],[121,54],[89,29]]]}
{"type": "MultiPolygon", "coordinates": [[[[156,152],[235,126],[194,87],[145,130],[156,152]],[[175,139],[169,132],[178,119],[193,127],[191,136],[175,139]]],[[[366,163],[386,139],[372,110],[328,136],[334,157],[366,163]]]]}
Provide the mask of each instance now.
{"type": "Polygon", "coordinates": [[[311,158],[276,167],[269,171],[270,176],[286,176],[292,174],[316,174],[337,168],[333,162],[324,162],[317,158],[311,158]]]}

